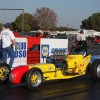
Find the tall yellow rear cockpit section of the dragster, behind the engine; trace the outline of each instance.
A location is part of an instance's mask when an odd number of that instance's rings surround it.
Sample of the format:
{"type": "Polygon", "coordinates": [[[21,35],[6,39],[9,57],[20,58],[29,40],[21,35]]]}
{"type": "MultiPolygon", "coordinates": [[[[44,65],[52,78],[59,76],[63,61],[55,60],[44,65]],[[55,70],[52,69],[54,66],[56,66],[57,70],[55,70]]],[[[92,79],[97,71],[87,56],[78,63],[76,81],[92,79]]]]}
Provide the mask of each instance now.
{"type": "Polygon", "coordinates": [[[85,73],[87,65],[90,63],[90,55],[83,57],[83,55],[68,55],[68,70],[75,70],[75,73],[85,73]]]}

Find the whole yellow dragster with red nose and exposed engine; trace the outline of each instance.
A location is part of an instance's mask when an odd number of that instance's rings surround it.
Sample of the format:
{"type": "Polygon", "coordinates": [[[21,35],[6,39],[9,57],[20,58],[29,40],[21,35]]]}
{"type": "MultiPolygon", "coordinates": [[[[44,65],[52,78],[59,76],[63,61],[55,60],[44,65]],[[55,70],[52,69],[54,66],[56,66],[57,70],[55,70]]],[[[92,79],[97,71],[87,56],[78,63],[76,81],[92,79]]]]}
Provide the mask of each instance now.
{"type": "Polygon", "coordinates": [[[46,63],[20,65],[14,68],[9,81],[12,84],[25,82],[34,90],[42,82],[58,79],[69,79],[90,73],[94,80],[100,80],[100,60],[91,63],[91,54],[85,42],[72,46],[69,54],[64,50],[55,50],[53,56],[46,58],[46,63]]]}

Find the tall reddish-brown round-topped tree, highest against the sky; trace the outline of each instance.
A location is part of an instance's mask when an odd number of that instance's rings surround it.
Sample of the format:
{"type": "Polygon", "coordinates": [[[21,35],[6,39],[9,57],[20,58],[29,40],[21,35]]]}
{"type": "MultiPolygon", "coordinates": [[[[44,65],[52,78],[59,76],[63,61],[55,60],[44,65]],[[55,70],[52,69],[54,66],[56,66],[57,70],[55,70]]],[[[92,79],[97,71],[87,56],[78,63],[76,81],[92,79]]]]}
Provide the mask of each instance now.
{"type": "Polygon", "coordinates": [[[43,7],[36,9],[34,20],[40,29],[55,29],[57,26],[57,14],[49,8],[43,7]]]}

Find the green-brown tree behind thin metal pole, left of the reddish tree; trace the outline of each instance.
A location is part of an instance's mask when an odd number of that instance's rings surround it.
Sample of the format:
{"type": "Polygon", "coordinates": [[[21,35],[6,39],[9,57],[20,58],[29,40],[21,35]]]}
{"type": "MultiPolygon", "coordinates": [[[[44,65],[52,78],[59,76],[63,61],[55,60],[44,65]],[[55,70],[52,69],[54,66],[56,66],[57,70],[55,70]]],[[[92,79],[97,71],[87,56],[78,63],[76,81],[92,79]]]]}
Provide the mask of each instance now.
{"type": "MultiPolygon", "coordinates": [[[[15,21],[12,23],[13,30],[22,30],[22,17],[23,14],[20,14],[15,21]]],[[[24,31],[29,32],[32,29],[33,16],[29,13],[24,13],[24,31]]]]}

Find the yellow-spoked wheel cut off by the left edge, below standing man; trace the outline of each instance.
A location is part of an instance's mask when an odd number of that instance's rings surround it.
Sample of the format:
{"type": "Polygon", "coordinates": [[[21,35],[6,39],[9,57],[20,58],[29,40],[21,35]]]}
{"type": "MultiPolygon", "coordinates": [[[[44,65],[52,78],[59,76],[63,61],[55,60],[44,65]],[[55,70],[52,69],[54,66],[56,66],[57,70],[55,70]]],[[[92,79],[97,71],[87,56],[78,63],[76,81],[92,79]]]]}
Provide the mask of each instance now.
{"type": "Polygon", "coordinates": [[[10,66],[6,63],[0,64],[0,81],[7,81],[11,72],[10,66]]]}

